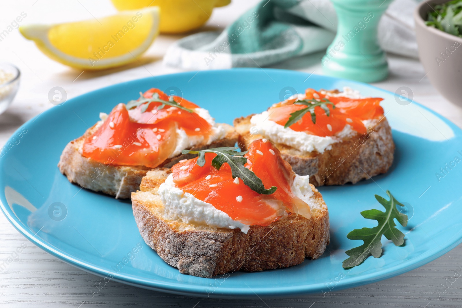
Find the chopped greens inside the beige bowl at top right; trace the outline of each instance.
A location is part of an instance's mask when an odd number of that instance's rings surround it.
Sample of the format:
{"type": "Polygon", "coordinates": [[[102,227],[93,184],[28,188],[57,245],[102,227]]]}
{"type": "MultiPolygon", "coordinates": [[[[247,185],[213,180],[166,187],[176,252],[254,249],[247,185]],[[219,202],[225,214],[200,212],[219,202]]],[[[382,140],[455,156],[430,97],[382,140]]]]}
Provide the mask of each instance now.
{"type": "Polygon", "coordinates": [[[462,37],[462,0],[438,4],[428,13],[427,26],[462,37]]]}

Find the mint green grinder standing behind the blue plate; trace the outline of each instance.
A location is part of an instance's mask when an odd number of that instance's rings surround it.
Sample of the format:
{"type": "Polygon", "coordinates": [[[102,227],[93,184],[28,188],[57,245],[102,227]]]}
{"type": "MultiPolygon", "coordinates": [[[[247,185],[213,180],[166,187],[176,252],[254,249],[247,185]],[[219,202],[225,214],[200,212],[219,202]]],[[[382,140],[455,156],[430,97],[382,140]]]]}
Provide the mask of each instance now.
{"type": "Polygon", "coordinates": [[[386,79],[388,64],[377,41],[377,26],[391,0],[331,1],[337,12],[337,35],[322,58],[323,72],[362,82],[386,79]]]}

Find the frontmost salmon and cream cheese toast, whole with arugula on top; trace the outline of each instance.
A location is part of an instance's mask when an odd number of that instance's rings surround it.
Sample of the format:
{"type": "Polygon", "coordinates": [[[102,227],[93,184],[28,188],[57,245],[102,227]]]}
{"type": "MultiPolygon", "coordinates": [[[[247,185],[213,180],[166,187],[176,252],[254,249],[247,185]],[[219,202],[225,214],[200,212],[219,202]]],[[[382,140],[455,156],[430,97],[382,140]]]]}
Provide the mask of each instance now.
{"type": "Polygon", "coordinates": [[[147,172],[132,193],[145,242],[181,273],[206,278],[321,256],[328,209],[309,177],[265,139],[236,149],[191,151],[199,156],[147,172]]]}

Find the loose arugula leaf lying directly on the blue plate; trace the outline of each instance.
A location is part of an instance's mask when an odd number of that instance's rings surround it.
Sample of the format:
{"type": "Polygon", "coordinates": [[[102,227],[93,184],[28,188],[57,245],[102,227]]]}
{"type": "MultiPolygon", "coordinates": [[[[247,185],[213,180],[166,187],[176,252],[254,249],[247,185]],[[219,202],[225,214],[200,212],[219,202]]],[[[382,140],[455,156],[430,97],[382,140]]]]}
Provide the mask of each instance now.
{"type": "Polygon", "coordinates": [[[393,241],[396,246],[401,246],[404,243],[404,234],[395,228],[394,221],[396,218],[403,227],[407,225],[407,215],[402,214],[396,208],[396,205],[404,205],[396,200],[388,190],[387,194],[390,197],[389,200],[375,195],[377,201],[386,209],[385,212],[376,209],[361,212],[364,218],[377,220],[378,225],[374,228],[354,229],[346,235],[350,240],[363,240],[364,244],[345,252],[350,257],[343,261],[343,267],[358,266],[370,255],[379,258],[382,255],[382,243],[380,242],[382,235],[393,241]]]}

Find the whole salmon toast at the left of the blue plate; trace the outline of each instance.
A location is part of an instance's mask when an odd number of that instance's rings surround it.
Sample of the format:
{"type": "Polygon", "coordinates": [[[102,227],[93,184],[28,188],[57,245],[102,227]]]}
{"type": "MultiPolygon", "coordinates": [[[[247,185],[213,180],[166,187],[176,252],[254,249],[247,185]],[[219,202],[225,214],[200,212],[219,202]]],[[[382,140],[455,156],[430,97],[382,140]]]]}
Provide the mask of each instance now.
{"type": "Polygon", "coordinates": [[[184,149],[237,141],[234,128],[215,123],[206,109],[158,89],[100,113],[100,119],[66,145],[58,167],[69,181],[116,198],[130,198],[148,170],[194,157],[184,149]]]}

